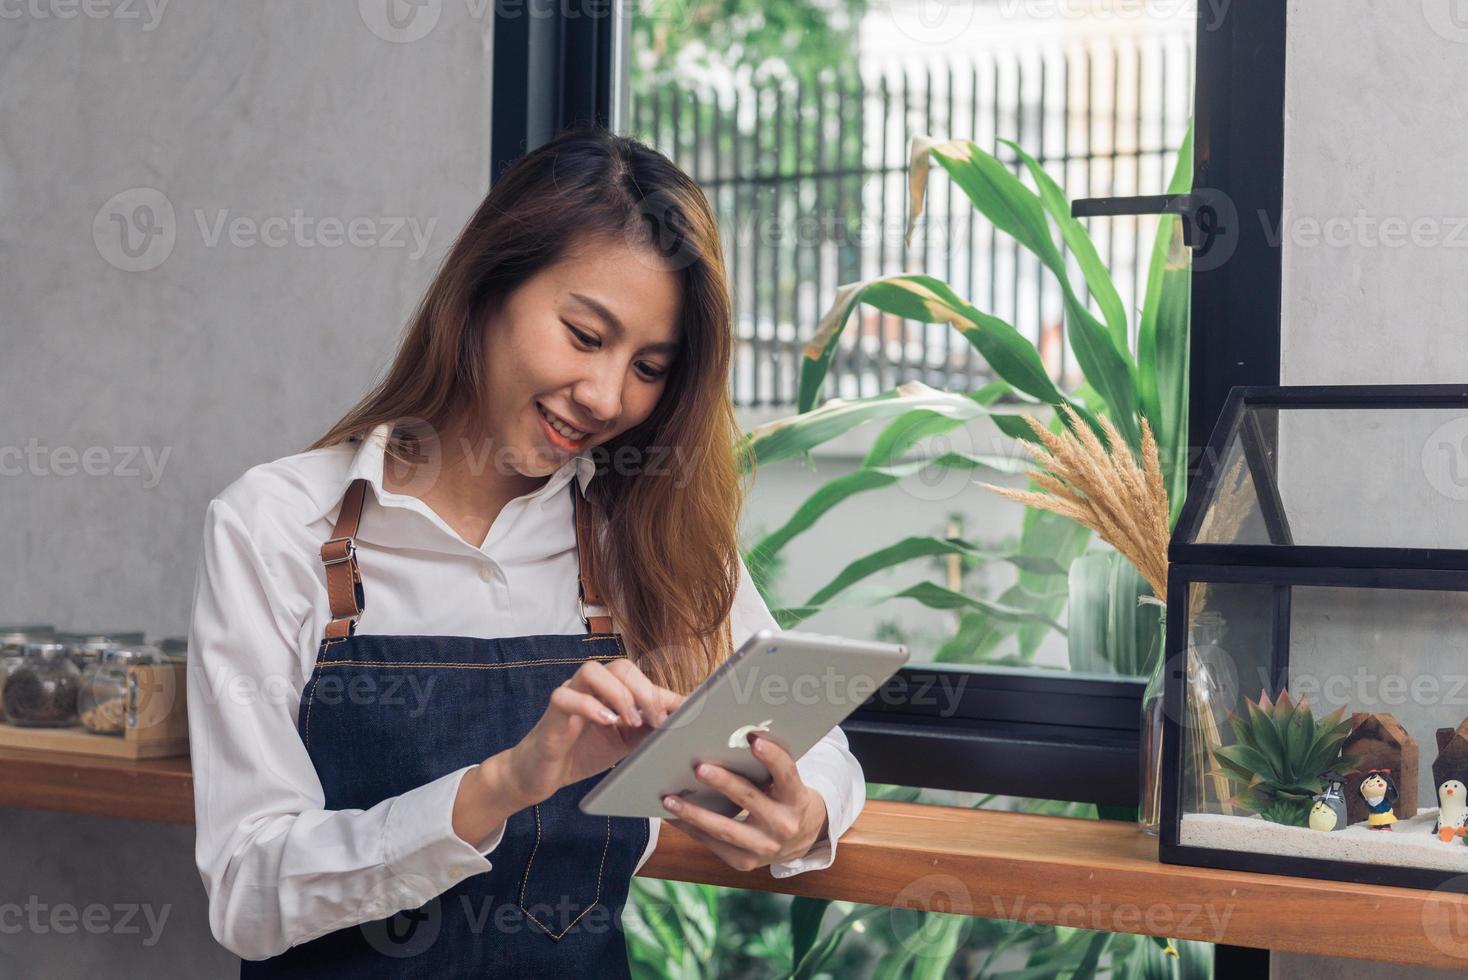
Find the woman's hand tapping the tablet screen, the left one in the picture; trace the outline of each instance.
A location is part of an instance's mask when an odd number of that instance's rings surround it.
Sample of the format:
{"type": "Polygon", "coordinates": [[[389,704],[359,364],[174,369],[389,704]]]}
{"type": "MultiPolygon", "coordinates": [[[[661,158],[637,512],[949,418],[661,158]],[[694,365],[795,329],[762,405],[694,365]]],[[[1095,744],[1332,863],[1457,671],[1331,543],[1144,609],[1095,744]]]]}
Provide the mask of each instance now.
{"type": "Polygon", "coordinates": [[[631,660],[587,660],[550,692],[536,726],[506,750],[505,778],[520,800],[546,800],[619,761],[683,700],[631,660]]]}

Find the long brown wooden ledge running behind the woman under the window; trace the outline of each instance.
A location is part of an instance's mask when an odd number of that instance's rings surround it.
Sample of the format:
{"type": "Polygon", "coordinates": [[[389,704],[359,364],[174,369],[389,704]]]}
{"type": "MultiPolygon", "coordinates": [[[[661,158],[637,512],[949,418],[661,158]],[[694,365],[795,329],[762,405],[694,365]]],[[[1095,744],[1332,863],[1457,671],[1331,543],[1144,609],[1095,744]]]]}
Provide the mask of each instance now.
{"type": "MultiPolygon", "coordinates": [[[[0,748],[0,805],[191,823],[189,760],[0,748]]],[[[646,877],[1107,932],[1462,965],[1465,896],[1157,861],[1133,824],[869,801],[837,863],[775,879],[735,871],[664,826],[646,877]]]]}

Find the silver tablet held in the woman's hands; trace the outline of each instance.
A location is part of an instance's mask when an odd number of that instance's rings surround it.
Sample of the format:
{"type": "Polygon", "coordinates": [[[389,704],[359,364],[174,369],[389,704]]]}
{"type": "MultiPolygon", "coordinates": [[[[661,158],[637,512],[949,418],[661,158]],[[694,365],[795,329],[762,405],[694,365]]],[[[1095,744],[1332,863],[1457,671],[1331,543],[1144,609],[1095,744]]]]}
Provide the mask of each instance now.
{"type": "Polygon", "coordinates": [[[757,786],[769,770],[749,732],[762,732],[800,758],[859,709],[907,662],[907,647],[760,629],[700,684],[637,748],[581,798],[581,811],[611,817],[668,817],[664,795],[733,817],[741,807],[699,782],[708,761],[757,786]]]}

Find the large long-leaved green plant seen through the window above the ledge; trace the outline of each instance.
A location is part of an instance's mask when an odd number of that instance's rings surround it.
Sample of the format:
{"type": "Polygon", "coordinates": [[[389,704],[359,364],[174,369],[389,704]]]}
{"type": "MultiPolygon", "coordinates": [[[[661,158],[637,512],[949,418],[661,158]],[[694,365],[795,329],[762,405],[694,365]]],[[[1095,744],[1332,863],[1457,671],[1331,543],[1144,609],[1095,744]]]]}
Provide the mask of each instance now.
{"type": "MultiPolygon", "coordinates": [[[[1013,439],[1036,440],[1026,418],[1050,412],[1050,430],[1064,424],[1060,406],[1101,433],[1097,412],[1104,412],[1133,452],[1141,449],[1141,421],[1157,436],[1164,484],[1171,500],[1169,522],[1176,519],[1186,480],[1188,402],[1188,257],[1176,217],[1158,223],[1148,270],[1145,302],[1138,312],[1138,351],[1127,348],[1129,323],[1110,271],[1100,261],[1085,227],[1070,217],[1064,192],[1019,145],[1006,141],[1029,173],[1026,186],[1009,164],[969,141],[913,138],[910,154],[909,235],[922,213],[929,160],[937,160],[970,202],[1000,232],[1013,236],[1041,260],[1060,285],[1072,348],[1086,381],[1063,393],[1051,380],[1039,351],[1000,317],[978,310],[947,283],[923,274],[882,276],[837,288],[829,310],[806,345],[800,368],[797,414],[775,420],[746,434],[740,459],[746,465],[768,465],[804,456],[857,425],[882,423],[862,464],[849,474],[818,487],[780,528],[759,538],[746,563],[756,584],[768,578],[768,566],[780,559],[800,534],[826,512],[851,497],[894,486],[929,467],[957,471],[1014,474],[1019,461],[998,453],[964,450],[923,455],[926,440],[941,437],[975,420],[989,420],[1013,439]],[[1057,238],[1058,236],[1058,238],[1057,238]],[[1083,289],[1070,279],[1066,254],[1083,276],[1083,289]],[[1086,296],[1098,311],[1092,312],[1086,296]],[[868,304],[882,312],[923,323],[948,323],[986,361],[995,380],[975,392],[942,392],[918,381],[863,399],[831,399],[816,406],[841,332],[851,311],[868,304]]],[[[1183,141],[1169,192],[1192,186],[1192,136],[1183,141]]],[[[1101,434],[1104,439],[1104,434],[1101,434]]],[[[1013,663],[1028,663],[1044,637],[1061,629],[1058,616],[1066,603],[1066,575],[1091,538],[1075,521],[1026,509],[1019,544],[995,550],[962,537],[909,537],[884,546],[843,568],[826,585],[799,606],[774,610],[790,628],[826,607],[871,606],[893,599],[915,599],[937,609],[954,610],[954,635],[935,653],[935,662],[992,662],[1007,638],[1017,643],[1013,663]],[[888,568],[941,555],[959,555],[970,566],[1006,562],[1016,569],[1016,582],[995,599],[981,599],[925,581],[903,590],[863,587],[862,579],[888,568]]]]}

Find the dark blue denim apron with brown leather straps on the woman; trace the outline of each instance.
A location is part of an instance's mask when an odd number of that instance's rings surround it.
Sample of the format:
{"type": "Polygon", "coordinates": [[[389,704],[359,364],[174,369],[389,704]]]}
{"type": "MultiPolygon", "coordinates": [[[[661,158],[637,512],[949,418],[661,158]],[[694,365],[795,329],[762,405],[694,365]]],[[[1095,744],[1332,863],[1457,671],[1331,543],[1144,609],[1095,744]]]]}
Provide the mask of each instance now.
{"type": "MultiPolygon", "coordinates": [[[[327,810],[366,810],[512,747],[584,662],[627,656],[605,607],[587,615],[600,593],[590,581],[589,508],[574,478],[586,635],[357,634],[364,593],[352,537],[366,491],[366,480],[352,483],[321,546],[333,619],[297,713],[327,810]]],[[[649,822],[581,813],[578,801],[603,775],[511,816],[489,871],[415,910],[244,961],[241,977],[630,977],[621,914],[649,822]]],[[[364,913],[399,891],[430,891],[414,877],[366,896],[364,913]]]]}

